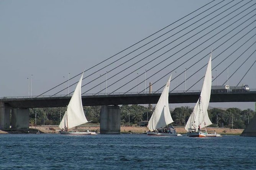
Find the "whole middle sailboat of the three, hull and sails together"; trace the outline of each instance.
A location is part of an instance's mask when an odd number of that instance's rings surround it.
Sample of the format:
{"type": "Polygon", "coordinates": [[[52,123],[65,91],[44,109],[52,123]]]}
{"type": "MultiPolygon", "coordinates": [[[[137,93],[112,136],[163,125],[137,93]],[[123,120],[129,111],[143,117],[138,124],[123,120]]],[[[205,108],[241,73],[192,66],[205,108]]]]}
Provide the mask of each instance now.
{"type": "Polygon", "coordinates": [[[164,90],[156,104],[155,110],[148,122],[148,135],[157,135],[157,136],[181,136],[181,134],[176,133],[174,127],[167,127],[170,123],[174,122],[171,117],[169,110],[169,86],[171,77],[168,79],[164,90]]]}

